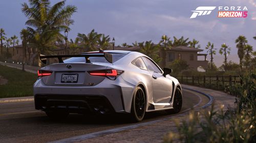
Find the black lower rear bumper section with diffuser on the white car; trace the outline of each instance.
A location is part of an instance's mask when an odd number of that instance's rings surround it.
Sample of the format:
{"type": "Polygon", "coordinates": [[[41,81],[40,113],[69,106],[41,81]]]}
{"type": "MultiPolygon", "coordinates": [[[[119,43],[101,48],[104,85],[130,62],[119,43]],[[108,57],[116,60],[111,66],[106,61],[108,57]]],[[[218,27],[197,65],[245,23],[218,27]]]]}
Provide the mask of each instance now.
{"type": "Polygon", "coordinates": [[[104,96],[35,95],[38,110],[66,110],[73,113],[112,113],[114,108],[104,96]]]}

